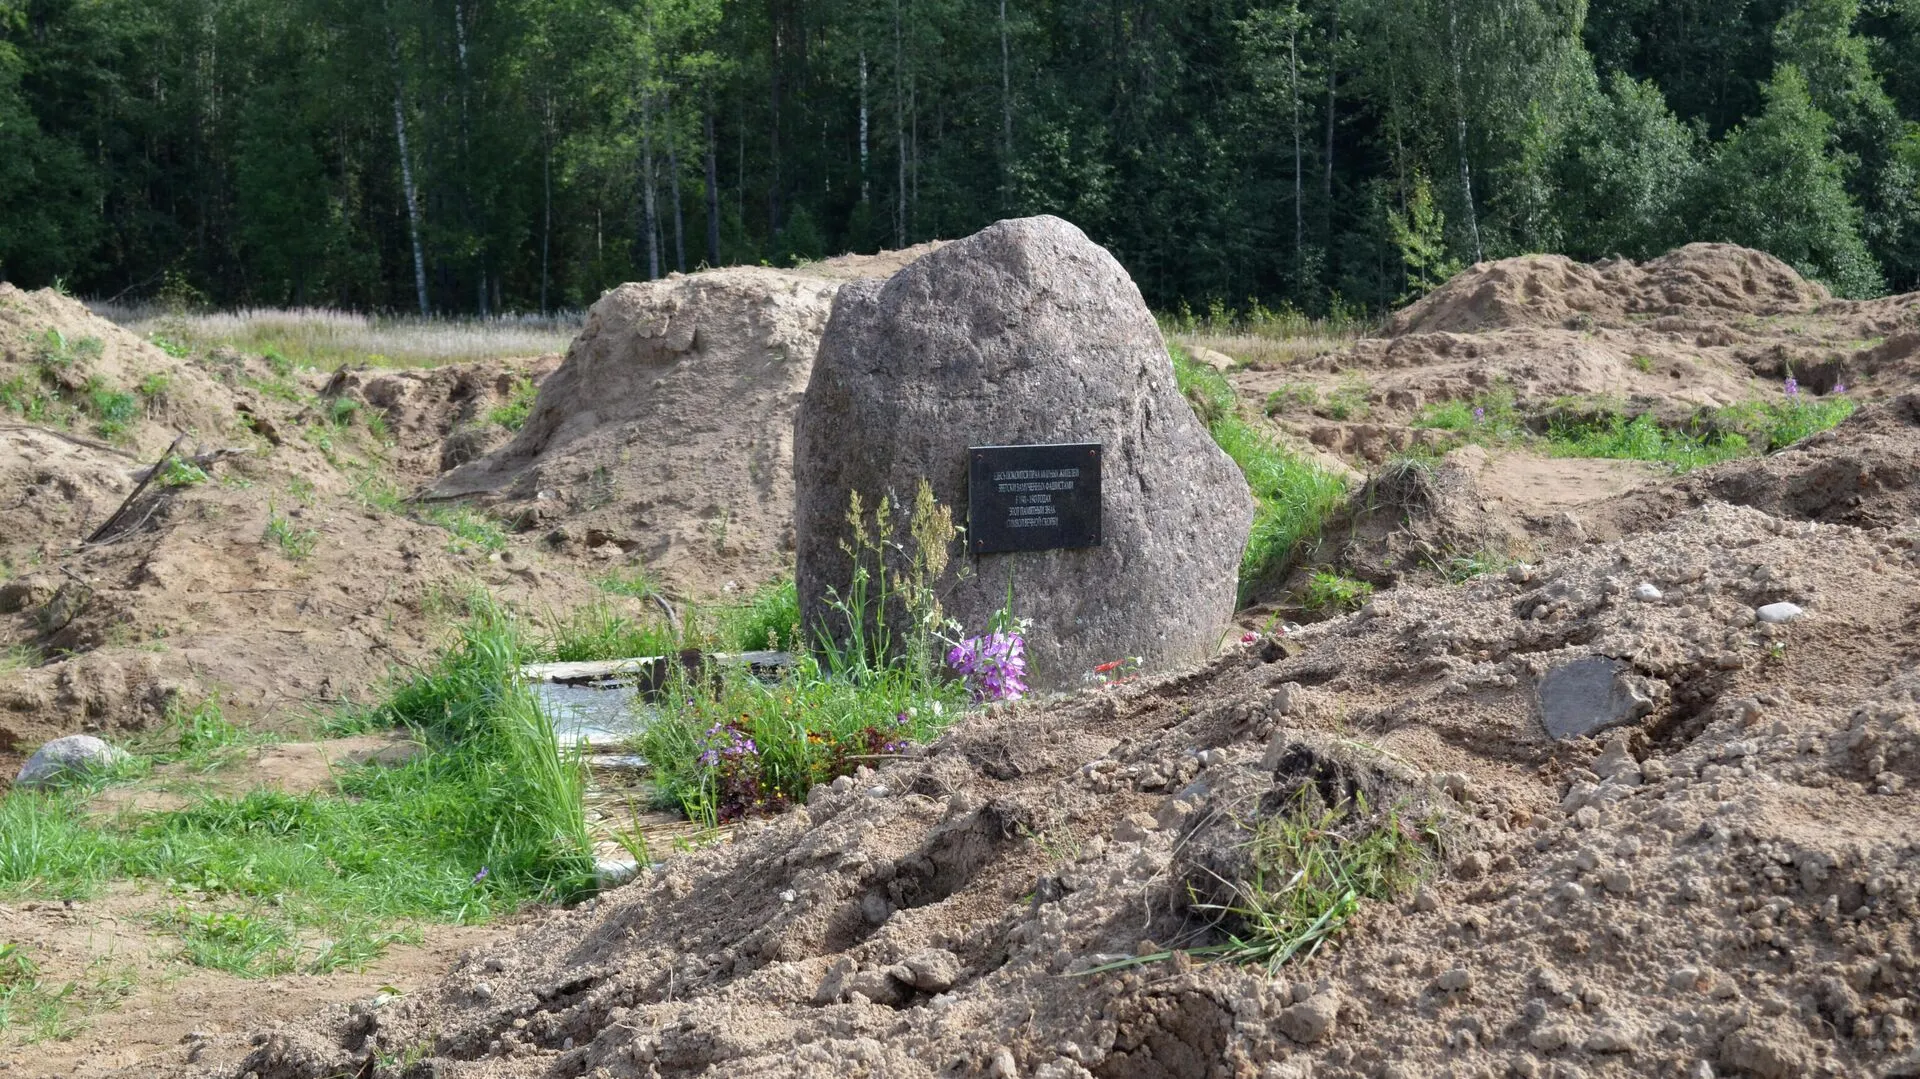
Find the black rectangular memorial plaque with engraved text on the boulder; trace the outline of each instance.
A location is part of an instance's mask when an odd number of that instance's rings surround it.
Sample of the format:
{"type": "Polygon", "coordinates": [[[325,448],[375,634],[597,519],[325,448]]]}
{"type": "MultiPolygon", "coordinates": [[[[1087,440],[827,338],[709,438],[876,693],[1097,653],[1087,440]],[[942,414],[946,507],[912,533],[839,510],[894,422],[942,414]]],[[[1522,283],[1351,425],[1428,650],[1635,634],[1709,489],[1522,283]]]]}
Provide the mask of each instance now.
{"type": "Polygon", "coordinates": [[[973,445],[966,543],[975,555],[1100,545],[1100,444],[973,445]]]}

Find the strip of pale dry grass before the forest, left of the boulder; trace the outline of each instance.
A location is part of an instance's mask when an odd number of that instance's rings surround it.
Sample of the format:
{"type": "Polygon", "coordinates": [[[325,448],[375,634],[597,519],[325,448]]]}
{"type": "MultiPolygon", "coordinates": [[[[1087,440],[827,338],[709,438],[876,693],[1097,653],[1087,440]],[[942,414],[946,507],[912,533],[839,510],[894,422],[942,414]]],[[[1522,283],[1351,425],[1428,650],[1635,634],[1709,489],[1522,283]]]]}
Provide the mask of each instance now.
{"type": "Polygon", "coordinates": [[[179,313],[156,305],[92,303],[92,309],[173,349],[227,346],[269,353],[286,365],[282,376],[296,365],[434,367],[545,355],[564,351],[582,323],[580,313],[419,319],[326,307],[179,313]]]}

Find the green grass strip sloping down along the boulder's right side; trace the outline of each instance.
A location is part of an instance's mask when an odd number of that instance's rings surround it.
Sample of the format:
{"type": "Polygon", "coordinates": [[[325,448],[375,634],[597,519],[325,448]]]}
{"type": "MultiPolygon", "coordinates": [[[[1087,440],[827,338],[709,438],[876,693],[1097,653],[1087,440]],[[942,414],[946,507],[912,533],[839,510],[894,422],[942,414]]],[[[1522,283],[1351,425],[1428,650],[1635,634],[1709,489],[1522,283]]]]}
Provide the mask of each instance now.
{"type": "Polygon", "coordinates": [[[1167,351],[1181,392],[1188,401],[1200,401],[1194,415],[1202,417],[1213,442],[1233,457],[1254,492],[1254,528],[1240,559],[1240,603],[1246,603],[1254,586],[1271,580],[1302,543],[1321,534],[1346,497],[1346,480],[1281,449],[1269,434],[1242,420],[1233,407],[1233,386],[1217,371],[1194,363],[1179,348],[1167,351]],[[1212,420],[1206,420],[1202,405],[1212,420]]]}

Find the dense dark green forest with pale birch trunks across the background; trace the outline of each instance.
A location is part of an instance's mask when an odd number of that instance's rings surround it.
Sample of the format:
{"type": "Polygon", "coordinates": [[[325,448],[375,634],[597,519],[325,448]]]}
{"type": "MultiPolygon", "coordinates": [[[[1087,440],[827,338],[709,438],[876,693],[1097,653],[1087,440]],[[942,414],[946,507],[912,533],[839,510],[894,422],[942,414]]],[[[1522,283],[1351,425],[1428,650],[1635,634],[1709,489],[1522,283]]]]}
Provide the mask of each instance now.
{"type": "Polygon", "coordinates": [[[1920,0],[0,0],[0,278],[501,313],[1058,213],[1162,307],[1920,282],[1920,0]]]}

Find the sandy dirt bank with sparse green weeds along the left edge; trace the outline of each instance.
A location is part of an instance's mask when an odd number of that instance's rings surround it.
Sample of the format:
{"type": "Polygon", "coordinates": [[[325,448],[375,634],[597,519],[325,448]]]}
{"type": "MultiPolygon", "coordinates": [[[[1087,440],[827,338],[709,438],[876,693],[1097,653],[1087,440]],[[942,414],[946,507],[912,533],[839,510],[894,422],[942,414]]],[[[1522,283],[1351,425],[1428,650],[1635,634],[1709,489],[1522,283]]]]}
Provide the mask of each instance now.
{"type": "Polygon", "coordinates": [[[48,737],[140,730],[215,695],[230,720],[298,728],[422,657],[474,584],[534,612],[597,597],[530,545],[490,557],[397,503],[553,359],[328,378],[230,349],[175,357],[12,286],[0,349],[15,413],[0,424],[0,783],[48,737]],[[96,392],[127,394],[132,415],[100,430],[96,392]],[[207,478],[142,488],[182,432],[207,478]]]}

